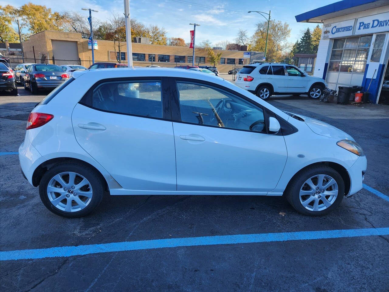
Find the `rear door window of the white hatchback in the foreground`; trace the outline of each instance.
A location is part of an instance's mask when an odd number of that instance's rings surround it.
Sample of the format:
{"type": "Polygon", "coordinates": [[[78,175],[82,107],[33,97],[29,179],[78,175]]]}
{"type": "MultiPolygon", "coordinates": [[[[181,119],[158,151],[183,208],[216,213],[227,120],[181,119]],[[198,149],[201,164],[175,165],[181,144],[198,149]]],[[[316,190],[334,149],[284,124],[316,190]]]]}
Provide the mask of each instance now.
{"type": "Polygon", "coordinates": [[[81,103],[121,114],[162,118],[161,81],[107,81],[96,86],[81,103]]]}

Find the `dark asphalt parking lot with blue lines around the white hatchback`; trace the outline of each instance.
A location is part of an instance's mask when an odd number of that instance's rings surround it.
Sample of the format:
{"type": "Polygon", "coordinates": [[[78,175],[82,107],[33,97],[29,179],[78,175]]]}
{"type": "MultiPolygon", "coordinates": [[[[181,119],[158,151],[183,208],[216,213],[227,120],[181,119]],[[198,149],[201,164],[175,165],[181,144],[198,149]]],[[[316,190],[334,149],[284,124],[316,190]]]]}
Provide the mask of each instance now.
{"type": "Polygon", "coordinates": [[[270,98],[366,153],[365,188],[327,216],[299,215],[282,197],[106,195],[67,219],[43,206],[15,154],[43,98],[20,87],[0,96],[1,291],[389,290],[389,106],[270,98]]]}

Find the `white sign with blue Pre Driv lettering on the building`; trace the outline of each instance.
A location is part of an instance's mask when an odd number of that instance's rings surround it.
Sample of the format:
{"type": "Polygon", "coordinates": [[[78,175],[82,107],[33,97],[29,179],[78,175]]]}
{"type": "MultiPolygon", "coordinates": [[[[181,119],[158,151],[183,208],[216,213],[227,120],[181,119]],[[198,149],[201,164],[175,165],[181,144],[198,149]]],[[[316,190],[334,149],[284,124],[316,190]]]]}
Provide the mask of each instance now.
{"type": "Polygon", "coordinates": [[[355,34],[389,31],[389,12],[358,18],[355,34]]]}

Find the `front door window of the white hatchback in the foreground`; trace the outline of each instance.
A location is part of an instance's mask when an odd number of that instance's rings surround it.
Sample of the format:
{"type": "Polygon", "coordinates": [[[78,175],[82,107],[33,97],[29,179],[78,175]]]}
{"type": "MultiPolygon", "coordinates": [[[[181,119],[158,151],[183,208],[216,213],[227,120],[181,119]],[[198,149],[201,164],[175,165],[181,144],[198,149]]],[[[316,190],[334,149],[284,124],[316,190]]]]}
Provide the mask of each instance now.
{"type": "Polygon", "coordinates": [[[181,120],[237,130],[265,131],[261,107],[205,84],[177,82],[181,120]]]}

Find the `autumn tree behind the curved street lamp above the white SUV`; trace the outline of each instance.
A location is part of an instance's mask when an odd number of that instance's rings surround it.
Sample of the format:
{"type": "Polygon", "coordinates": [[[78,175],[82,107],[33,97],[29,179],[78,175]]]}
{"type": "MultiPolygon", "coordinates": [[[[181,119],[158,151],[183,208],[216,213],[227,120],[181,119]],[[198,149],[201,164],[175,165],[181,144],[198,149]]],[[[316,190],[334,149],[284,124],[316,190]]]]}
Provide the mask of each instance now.
{"type": "MultiPolygon", "coordinates": [[[[264,52],[268,22],[259,22],[256,26],[256,31],[249,44],[249,50],[264,52]]],[[[282,21],[270,20],[266,61],[280,62],[283,59],[285,52],[291,46],[287,42],[290,33],[291,29],[286,22],[282,23],[282,21]]]]}

